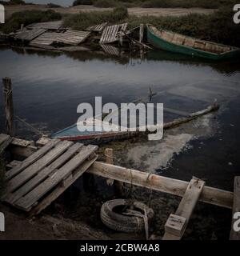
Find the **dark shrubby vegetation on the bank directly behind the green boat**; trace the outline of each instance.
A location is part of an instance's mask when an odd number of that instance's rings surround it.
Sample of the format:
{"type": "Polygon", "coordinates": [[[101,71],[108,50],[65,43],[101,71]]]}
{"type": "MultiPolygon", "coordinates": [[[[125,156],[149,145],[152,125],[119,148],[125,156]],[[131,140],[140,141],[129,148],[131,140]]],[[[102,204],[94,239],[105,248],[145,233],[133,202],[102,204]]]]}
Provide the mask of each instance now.
{"type": "Polygon", "coordinates": [[[233,22],[234,12],[230,9],[218,10],[215,14],[190,14],[182,17],[135,17],[130,16],[130,27],[139,23],[150,23],[158,29],[172,30],[194,38],[240,46],[240,26],[233,22]]]}

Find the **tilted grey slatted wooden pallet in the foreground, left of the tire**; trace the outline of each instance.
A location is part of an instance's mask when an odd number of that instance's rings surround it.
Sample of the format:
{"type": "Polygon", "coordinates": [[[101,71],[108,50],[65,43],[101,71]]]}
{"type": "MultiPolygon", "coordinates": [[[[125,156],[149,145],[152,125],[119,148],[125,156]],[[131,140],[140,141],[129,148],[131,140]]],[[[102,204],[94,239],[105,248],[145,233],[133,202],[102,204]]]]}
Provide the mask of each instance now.
{"type": "Polygon", "coordinates": [[[9,165],[1,200],[38,214],[94,163],[97,148],[50,140],[24,161],[9,165]]]}

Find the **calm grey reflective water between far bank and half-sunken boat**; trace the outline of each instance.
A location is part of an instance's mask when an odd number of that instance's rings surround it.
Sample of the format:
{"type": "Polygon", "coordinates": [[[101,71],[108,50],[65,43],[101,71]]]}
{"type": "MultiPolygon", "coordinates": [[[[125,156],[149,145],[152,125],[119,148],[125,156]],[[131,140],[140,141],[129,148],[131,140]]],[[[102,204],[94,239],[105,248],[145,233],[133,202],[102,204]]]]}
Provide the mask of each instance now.
{"type": "MultiPolygon", "coordinates": [[[[94,103],[95,96],[103,103],[131,102],[146,97],[151,86],[158,93],[155,102],[192,112],[215,98],[226,104],[240,94],[239,62],[216,64],[162,51],[141,60],[0,48],[0,77],[6,76],[13,82],[15,114],[48,133],[76,122],[78,104],[94,103]]],[[[2,90],[0,97],[2,130],[2,90]]]]}

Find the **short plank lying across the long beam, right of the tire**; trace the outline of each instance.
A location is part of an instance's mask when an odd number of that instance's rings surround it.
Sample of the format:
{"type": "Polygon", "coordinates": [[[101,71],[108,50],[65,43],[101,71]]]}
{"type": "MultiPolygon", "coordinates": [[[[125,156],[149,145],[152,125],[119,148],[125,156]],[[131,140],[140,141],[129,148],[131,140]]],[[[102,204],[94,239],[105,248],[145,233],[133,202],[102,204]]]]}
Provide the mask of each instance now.
{"type": "Polygon", "coordinates": [[[178,231],[179,235],[174,234],[174,231],[170,233],[170,230],[174,230],[174,226],[170,226],[169,221],[166,223],[166,232],[162,238],[162,240],[180,240],[182,238],[182,235],[184,234],[186,230],[186,225],[190,220],[190,216],[194,211],[194,208],[198,202],[198,198],[200,197],[203,186],[205,182],[197,179],[192,178],[189,182],[189,185],[186,188],[186,192],[182,198],[182,201],[180,202],[178,206],[178,210],[176,210],[174,215],[180,216],[182,218],[186,219],[186,222],[184,225],[182,225],[181,230],[175,230],[178,231]]]}

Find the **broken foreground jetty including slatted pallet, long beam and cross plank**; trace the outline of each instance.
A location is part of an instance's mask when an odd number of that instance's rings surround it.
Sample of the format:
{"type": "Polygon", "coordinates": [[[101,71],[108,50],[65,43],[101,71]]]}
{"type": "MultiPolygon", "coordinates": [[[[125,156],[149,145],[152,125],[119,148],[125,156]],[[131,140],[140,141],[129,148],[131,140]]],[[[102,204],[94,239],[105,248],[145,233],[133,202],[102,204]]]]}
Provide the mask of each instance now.
{"type": "MultiPolygon", "coordinates": [[[[1,138],[7,136],[1,134],[1,138]]],[[[233,209],[233,213],[239,211],[239,177],[235,179],[233,193],[206,186],[198,178],[185,182],[114,166],[110,149],[106,150],[106,161],[110,163],[98,162],[96,146],[49,138],[41,138],[36,144],[12,138],[8,145],[12,154],[26,159],[7,165],[10,170],[6,171],[7,184],[2,200],[30,214],[38,214],[49,206],[83,172],[182,197],[178,209],[166,222],[165,240],[182,238],[198,201],[233,209]]],[[[230,238],[239,239],[239,234],[232,230],[230,238]]]]}

